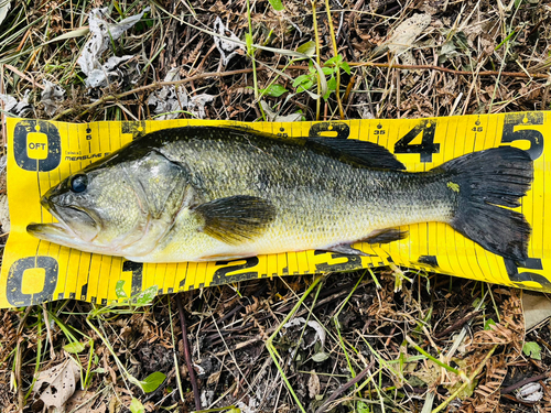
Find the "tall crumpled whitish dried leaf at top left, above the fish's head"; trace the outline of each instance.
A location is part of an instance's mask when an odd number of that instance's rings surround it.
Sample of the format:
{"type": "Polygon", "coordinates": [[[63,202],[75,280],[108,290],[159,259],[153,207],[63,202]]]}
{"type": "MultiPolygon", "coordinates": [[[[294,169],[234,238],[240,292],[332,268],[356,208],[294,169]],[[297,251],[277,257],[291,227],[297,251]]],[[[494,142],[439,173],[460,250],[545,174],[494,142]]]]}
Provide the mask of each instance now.
{"type": "MultiPolygon", "coordinates": [[[[93,9],[89,14],[88,20],[91,37],[84,45],[83,53],[77,59],[77,63],[80,65],[80,69],[86,76],[90,76],[91,72],[95,69],[98,70],[102,68],[99,63],[101,53],[108,48],[111,41],[118,40],[122,33],[138,23],[143,14],[150,10],[150,8],[147,7],[141,13],[131,15],[117,23],[109,23],[102,19],[106,15],[107,10],[107,8],[93,9]]],[[[95,76],[96,78],[94,81],[100,83],[100,80],[98,80],[99,74],[95,73],[95,76]]],[[[89,86],[88,81],[87,86],[89,86]]]]}

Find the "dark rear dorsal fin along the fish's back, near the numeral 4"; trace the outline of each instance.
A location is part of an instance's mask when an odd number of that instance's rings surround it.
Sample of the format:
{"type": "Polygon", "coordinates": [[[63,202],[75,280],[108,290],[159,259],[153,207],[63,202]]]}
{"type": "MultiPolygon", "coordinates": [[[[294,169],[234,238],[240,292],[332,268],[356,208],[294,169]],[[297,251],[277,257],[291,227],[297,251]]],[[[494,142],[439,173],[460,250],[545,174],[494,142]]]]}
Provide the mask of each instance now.
{"type": "Polygon", "coordinates": [[[343,162],[353,161],[361,166],[381,170],[406,170],[403,163],[386,148],[357,139],[306,138],[306,145],[329,152],[343,162]]]}

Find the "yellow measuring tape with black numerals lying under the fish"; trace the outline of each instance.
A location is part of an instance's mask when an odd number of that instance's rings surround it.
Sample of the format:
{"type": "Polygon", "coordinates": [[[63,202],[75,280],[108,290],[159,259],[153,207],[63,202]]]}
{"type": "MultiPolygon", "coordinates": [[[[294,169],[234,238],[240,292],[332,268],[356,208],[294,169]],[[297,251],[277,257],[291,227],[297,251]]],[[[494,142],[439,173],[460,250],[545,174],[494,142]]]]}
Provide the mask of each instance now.
{"type": "Polygon", "coordinates": [[[183,126],[239,124],[169,120],[64,123],[8,118],[8,196],[11,232],[0,275],[0,307],[60,298],[108,304],[155,286],[159,294],[258,278],[358,270],[388,265],[453,274],[490,283],[551,292],[550,112],[343,122],[249,123],[281,137],[339,137],[376,142],[411,172],[429,171],[465,153],[512,145],[527,151],[534,180],[518,208],[532,227],[523,267],[484,250],[445,224],[403,227],[409,237],[388,244],[358,243],[369,257],[302,251],[236,261],[141,264],[41,241],[31,222],[53,222],[40,198],[53,185],[138,137],[183,126]],[[549,146],[549,145],[548,145],[549,146]],[[545,159],[547,155],[547,159],[545,159]],[[545,272],[548,270],[548,272],[545,272]],[[123,284],[120,281],[125,281],[123,284]]]}

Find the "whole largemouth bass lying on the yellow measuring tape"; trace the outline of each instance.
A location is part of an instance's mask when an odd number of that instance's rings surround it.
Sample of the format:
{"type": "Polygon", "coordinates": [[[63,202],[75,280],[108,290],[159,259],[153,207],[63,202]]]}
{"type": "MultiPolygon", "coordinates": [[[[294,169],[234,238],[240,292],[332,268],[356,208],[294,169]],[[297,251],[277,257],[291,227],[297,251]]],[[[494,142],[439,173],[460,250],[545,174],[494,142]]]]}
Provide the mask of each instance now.
{"type": "Polygon", "coordinates": [[[487,251],[523,262],[531,227],[511,208],[533,181],[512,146],[409,172],[386,148],[239,127],[148,133],[50,188],[57,222],[29,233],[134,262],[233,260],[395,242],[404,226],[445,222],[487,251]]]}

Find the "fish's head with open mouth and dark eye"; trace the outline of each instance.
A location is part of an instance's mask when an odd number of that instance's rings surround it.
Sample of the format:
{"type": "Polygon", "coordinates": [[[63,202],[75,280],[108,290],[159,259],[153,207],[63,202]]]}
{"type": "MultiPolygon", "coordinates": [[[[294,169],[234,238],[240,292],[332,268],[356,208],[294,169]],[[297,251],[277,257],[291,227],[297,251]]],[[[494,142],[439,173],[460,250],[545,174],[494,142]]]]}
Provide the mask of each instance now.
{"type": "Polygon", "coordinates": [[[31,224],[31,235],[87,252],[120,254],[147,232],[147,202],[121,165],[80,171],[42,197],[58,222],[31,224]]]}

